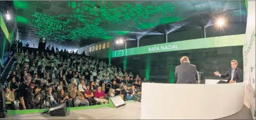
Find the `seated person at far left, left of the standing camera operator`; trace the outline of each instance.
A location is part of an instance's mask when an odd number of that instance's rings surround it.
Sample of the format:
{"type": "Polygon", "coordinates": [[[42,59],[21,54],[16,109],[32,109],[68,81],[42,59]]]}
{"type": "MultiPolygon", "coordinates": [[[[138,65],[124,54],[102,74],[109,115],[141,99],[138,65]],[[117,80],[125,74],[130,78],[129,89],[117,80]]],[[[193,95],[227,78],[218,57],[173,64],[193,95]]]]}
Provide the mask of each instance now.
{"type": "Polygon", "coordinates": [[[14,103],[15,96],[14,96],[14,93],[9,89],[9,87],[5,88],[5,99],[6,99],[6,103],[11,102],[7,106],[14,110],[15,109],[15,103],[14,103]]]}

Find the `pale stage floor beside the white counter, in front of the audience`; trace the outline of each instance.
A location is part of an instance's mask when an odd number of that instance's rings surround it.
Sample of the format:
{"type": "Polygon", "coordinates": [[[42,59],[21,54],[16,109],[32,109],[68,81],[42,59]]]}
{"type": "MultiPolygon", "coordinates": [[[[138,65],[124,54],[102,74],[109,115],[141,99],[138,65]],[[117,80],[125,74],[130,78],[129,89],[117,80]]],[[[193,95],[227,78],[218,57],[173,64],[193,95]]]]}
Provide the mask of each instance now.
{"type": "MultiPolygon", "coordinates": [[[[42,113],[9,114],[6,118],[1,119],[140,119],[141,103],[130,102],[119,108],[103,106],[93,109],[70,109],[68,114],[65,117],[50,116],[42,113]]],[[[244,106],[238,113],[221,119],[252,119],[252,116],[250,110],[244,106]]]]}

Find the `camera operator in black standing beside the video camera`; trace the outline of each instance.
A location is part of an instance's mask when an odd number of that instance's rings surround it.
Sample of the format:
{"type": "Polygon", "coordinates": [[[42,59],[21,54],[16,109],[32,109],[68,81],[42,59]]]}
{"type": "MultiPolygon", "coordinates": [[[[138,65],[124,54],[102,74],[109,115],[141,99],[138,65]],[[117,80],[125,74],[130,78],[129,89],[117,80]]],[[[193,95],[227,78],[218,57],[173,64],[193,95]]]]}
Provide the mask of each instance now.
{"type": "Polygon", "coordinates": [[[21,107],[23,109],[33,109],[34,104],[32,100],[32,88],[31,88],[31,75],[24,75],[24,81],[19,86],[19,97],[21,107]]]}

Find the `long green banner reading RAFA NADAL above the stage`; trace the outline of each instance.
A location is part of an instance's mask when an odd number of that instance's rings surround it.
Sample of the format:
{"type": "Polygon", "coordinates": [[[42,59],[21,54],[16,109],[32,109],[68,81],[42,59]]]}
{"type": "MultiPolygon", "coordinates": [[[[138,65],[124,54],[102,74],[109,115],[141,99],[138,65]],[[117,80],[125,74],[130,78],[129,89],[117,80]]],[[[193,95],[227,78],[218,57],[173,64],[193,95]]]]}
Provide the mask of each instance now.
{"type": "Polygon", "coordinates": [[[238,46],[238,45],[243,45],[243,38],[244,38],[244,34],[240,34],[240,35],[200,38],[200,39],[183,40],[183,41],[169,42],[169,43],[162,43],[162,44],[154,44],[154,45],[112,51],[112,57],[166,52],[166,51],[188,50],[188,49],[238,46]]]}

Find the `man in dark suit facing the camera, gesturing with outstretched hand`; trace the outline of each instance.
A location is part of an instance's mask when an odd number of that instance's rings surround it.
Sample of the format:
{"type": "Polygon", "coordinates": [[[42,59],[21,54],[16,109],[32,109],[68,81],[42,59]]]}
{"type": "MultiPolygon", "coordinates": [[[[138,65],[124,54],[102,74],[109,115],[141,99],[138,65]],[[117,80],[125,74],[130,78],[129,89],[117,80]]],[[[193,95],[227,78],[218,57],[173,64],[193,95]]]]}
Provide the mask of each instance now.
{"type": "Polygon", "coordinates": [[[229,69],[229,71],[226,74],[222,75],[218,71],[214,72],[214,75],[219,76],[221,78],[226,78],[226,77],[229,76],[229,80],[227,82],[220,80],[218,82],[218,84],[221,84],[221,83],[241,83],[241,82],[243,82],[242,72],[240,71],[239,68],[237,68],[237,66],[238,66],[238,63],[234,59],[234,60],[231,61],[231,69],[229,69]]]}

